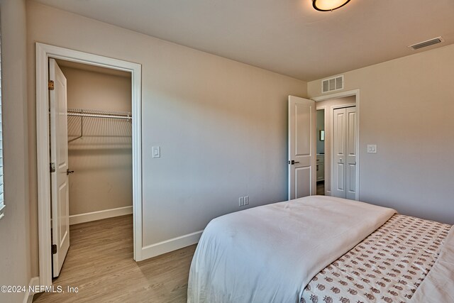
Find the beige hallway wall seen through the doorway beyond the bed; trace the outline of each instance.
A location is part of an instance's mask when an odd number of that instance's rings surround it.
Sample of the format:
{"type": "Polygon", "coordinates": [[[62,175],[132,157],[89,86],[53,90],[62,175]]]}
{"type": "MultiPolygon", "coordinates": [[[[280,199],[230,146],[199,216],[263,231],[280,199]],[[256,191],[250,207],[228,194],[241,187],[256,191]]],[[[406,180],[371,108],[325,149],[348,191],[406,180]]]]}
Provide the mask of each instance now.
{"type": "MultiPolygon", "coordinates": [[[[325,190],[327,194],[331,194],[331,124],[333,122],[333,106],[343,106],[355,104],[355,97],[343,97],[339,99],[331,99],[326,101],[316,102],[317,109],[325,109],[325,190]]],[[[317,138],[319,133],[317,133],[317,138]]]]}

